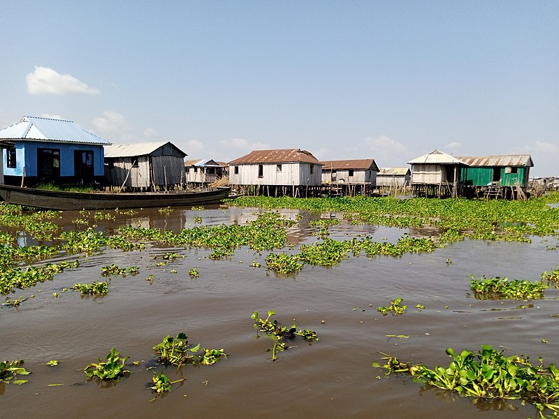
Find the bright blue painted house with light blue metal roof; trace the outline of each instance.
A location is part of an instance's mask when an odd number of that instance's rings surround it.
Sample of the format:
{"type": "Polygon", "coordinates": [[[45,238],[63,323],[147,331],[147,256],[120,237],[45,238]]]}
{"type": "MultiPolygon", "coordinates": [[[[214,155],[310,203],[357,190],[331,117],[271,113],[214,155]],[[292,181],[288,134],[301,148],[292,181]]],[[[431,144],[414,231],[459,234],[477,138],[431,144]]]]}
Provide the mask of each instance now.
{"type": "Polygon", "coordinates": [[[0,140],[13,143],[2,149],[6,184],[103,181],[103,145],[110,142],[75,122],[23,117],[17,124],[1,129],[0,140]]]}

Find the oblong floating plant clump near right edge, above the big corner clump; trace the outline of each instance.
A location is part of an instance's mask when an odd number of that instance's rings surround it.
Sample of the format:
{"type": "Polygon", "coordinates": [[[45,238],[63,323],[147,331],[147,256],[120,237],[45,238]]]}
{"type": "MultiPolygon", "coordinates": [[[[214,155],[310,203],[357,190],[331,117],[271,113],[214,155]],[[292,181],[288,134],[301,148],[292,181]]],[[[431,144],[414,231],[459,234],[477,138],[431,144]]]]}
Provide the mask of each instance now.
{"type": "Polygon", "coordinates": [[[509,281],[507,277],[492,277],[477,280],[471,276],[470,289],[479,300],[539,300],[548,288],[542,282],[530,282],[524,279],[509,281]]]}

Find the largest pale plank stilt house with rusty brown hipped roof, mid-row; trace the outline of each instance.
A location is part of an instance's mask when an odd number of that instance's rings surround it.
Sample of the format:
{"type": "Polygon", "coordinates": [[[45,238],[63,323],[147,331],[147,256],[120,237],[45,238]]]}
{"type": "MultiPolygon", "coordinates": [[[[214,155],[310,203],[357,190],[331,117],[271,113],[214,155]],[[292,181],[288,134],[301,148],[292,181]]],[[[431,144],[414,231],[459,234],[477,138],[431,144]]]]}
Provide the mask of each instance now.
{"type": "Polygon", "coordinates": [[[310,152],[302,149],[256,150],[229,162],[229,184],[252,186],[256,193],[268,193],[272,186],[275,194],[289,193],[291,187],[296,195],[300,186],[321,185],[321,167],[310,152]]]}

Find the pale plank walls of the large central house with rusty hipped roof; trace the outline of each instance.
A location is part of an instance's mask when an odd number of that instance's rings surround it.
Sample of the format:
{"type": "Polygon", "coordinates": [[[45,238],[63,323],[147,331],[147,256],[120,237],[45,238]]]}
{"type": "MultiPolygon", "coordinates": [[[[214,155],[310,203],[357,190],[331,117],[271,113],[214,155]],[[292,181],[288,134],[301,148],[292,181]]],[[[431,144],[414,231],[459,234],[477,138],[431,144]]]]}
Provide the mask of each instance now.
{"type": "Polygon", "coordinates": [[[321,166],[311,163],[266,163],[262,164],[262,176],[259,176],[258,164],[231,166],[229,183],[234,185],[279,185],[279,186],[319,186],[321,184],[321,166]],[[311,169],[312,167],[312,169],[311,169]],[[312,173],[311,173],[312,170],[312,173]]]}

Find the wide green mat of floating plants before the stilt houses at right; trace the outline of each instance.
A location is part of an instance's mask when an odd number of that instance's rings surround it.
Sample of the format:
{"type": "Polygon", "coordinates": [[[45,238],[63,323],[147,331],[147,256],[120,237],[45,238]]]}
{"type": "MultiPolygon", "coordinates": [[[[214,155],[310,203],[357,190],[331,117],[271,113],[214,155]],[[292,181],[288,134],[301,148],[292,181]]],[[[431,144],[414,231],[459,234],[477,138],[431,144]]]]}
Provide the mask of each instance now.
{"type": "Polygon", "coordinates": [[[227,201],[240,207],[296,208],[314,212],[335,211],[344,218],[400,228],[437,226],[444,242],[459,236],[480,240],[526,240],[525,235],[558,235],[559,193],[528,201],[470,200],[465,198],[269,198],[239,197],[227,201]],[[491,232],[496,234],[491,234],[491,232]]]}

